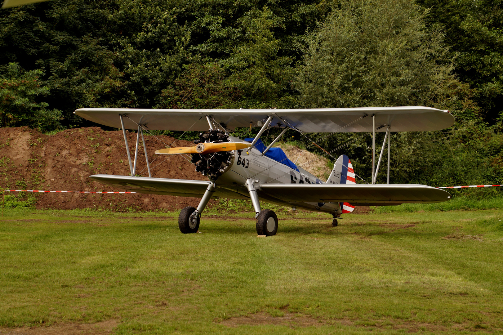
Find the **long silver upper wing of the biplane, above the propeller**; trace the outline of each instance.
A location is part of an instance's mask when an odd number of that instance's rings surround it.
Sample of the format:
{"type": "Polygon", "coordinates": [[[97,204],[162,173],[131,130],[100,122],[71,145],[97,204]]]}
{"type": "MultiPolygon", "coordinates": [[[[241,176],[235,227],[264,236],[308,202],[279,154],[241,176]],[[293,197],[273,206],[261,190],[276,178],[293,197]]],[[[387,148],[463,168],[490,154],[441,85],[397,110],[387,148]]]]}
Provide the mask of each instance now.
{"type": "Polygon", "coordinates": [[[270,115],[273,127],[295,127],[312,132],[372,131],[372,115],[376,116],[377,131],[430,131],[449,128],[454,117],[449,111],[430,107],[366,107],[317,109],[115,109],[81,108],[74,112],[87,120],[106,126],[122,128],[119,115],[124,115],[124,127],[137,129],[137,124],[155,130],[206,131],[206,116],[211,116],[227,129],[255,125],[270,115]],[[365,116],[368,117],[365,117],[365,116]],[[364,117],[364,118],[362,118],[364,117]],[[133,122],[134,121],[134,122],[133,122]]]}

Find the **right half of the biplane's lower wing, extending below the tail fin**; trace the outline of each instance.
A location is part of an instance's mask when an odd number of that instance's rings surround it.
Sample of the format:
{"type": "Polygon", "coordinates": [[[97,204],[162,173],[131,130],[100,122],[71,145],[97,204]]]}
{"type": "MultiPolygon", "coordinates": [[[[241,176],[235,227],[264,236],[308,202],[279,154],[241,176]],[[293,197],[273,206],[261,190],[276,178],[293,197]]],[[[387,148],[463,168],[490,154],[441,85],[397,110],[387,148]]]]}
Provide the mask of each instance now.
{"type": "Polygon", "coordinates": [[[414,184],[262,184],[260,189],[260,193],[287,202],[391,205],[428,204],[451,198],[451,194],[444,190],[414,184]]]}

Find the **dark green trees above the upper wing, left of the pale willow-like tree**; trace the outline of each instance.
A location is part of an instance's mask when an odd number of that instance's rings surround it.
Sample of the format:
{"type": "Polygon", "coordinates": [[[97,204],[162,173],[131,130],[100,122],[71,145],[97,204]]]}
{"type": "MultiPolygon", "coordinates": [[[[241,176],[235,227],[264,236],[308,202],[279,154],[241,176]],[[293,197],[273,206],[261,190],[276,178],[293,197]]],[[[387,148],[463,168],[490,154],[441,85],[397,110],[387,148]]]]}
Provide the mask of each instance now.
{"type": "Polygon", "coordinates": [[[209,91],[188,105],[173,96],[203,67],[221,69],[217,91],[232,91],[220,106],[289,106],[293,44],[328,10],[313,0],[52,0],[0,12],[0,64],[41,69],[65,126],[89,125],[72,114],[80,107],[210,106],[209,91]]]}

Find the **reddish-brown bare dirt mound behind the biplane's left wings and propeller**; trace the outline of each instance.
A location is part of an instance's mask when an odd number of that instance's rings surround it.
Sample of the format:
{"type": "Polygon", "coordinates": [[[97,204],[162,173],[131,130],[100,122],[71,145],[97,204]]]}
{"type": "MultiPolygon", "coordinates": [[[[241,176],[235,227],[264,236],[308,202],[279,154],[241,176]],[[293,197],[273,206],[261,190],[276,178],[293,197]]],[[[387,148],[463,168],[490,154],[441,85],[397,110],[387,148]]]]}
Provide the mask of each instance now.
{"type": "MultiPolygon", "coordinates": [[[[157,136],[167,144],[170,136],[157,136]]],[[[136,134],[128,132],[131,158],[134,158],[136,134]]],[[[141,141],[140,141],[141,143],[141,141]]],[[[156,155],[164,148],[153,136],[145,136],[152,177],[205,180],[194,165],[181,155],[156,155]],[[155,159],[155,160],[154,160],[155,159]]],[[[193,145],[178,140],[174,146],[193,145]]],[[[113,189],[88,177],[95,174],[129,175],[122,131],[105,131],[98,127],[68,129],[54,135],[29,129],[0,128],[0,188],[54,191],[123,191],[113,189]]],[[[148,177],[143,146],[138,155],[137,174],[148,177]]],[[[17,195],[17,194],[16,194],[17,195]]],[[[38,199],[37,208],[96,208],[112,210],[177,210],[197,206],[198,198],[148,194],[61,194],[30,193],[38,199]]],[[[211,206],[211,203],[210,203],[211,206]]]]}

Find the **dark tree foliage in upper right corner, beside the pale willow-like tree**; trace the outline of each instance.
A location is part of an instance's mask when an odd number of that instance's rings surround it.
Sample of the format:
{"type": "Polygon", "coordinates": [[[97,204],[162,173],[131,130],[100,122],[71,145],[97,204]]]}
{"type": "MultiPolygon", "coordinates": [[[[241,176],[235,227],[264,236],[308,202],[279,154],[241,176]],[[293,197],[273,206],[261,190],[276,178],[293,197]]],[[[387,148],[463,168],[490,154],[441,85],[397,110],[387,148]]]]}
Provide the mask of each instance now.
{"type": "Polygon", "coordinates": [[[494,123],[503,112],[503,8],[500,0],[417,0],[446,32],[455,72],[474,89],[473,100],[494,123]]]}

